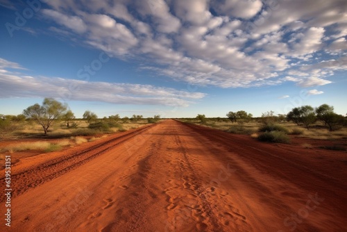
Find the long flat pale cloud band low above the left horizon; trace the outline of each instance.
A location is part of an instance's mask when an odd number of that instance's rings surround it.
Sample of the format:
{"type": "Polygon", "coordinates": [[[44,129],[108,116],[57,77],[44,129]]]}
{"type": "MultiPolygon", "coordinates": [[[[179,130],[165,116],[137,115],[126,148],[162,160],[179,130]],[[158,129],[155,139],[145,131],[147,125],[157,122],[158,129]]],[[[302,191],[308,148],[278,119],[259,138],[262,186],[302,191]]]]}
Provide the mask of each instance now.
{"type": "MultiPolygon", "coordinates": [[[[0,60],[5,69],[21,67],[0,60]]],[[[76,79],[28,76],[17,72],[0,72],[0,98],[54,97],[64,101],[101,101],[118,104],[189,106],[205,97],[201,92],[175,90],[153,85],[88,82],[76,79]]]]}

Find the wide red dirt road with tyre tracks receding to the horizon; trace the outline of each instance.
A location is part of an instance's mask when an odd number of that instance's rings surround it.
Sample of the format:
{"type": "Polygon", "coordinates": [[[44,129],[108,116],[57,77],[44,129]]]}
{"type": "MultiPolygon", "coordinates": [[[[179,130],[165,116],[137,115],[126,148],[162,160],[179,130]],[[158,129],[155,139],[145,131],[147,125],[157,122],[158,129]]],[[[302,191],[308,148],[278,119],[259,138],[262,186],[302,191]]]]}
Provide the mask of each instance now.
{"type": "Polygon", "coordinates": [[[17,163],[0,231],[346,231],[346,161],[167,120],[17,163]]]}

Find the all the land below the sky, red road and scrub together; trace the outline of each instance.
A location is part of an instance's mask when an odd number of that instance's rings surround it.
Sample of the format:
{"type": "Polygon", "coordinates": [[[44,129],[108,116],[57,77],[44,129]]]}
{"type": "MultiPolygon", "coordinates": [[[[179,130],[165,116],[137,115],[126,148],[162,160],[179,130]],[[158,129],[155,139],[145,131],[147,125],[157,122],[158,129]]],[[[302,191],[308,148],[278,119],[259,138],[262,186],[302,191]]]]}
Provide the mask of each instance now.
{"type": "Polygon", "coordinates": [[[332,131],[319,114],[307,130],[290,113],[76,119],[54,99],[40,108],[0,119],[12,231],[346,229],[347,130],[332,107],[332,131]]]}

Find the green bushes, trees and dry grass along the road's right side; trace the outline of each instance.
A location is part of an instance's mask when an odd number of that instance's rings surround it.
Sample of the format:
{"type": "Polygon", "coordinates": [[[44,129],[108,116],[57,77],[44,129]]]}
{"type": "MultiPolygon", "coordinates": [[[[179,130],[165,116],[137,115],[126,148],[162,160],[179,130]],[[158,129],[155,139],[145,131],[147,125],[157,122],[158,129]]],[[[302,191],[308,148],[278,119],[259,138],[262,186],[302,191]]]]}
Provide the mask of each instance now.
{"type": "MultiPolygon", "coordinates": [[[[337,115],[334,108],[323,104],[317,108],[301,106],[293,108],[287,115],[274,115],[273,111],[253,117],[244,110],[228,112],[226,117],[183,118],[183,122],[200,124],[228,133],[251,135],[262,142],[290,143],[291,137],[314,140],[346,140],[347,117],[337,115]]],[[[310,147],[310,146],[303,146],[310,147]]],[[[328,149],[328,147],[326,148],[328,149]]],[[[341,147],[330,147],[341,149],[341,147]]]]}

